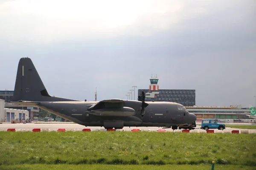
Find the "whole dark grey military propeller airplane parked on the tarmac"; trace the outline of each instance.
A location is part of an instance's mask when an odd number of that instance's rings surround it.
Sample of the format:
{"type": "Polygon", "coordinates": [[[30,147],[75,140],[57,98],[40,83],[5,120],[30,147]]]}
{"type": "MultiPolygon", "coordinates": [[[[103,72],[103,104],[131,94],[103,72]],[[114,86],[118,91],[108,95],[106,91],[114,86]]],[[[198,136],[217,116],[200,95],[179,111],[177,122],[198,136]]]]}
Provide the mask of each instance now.
{"type": "Polygon", "coordinates": [[[30,58],[21,58],[13,102],[19,105],[34,105],[84,126],[104,126],[106,129],[122,129],[124,126],[172,127],[196,120],[183,105],[174,102],[145,102],[144,92],[138,101],[106,99],[87,102],[50,96],[30,58]]]}

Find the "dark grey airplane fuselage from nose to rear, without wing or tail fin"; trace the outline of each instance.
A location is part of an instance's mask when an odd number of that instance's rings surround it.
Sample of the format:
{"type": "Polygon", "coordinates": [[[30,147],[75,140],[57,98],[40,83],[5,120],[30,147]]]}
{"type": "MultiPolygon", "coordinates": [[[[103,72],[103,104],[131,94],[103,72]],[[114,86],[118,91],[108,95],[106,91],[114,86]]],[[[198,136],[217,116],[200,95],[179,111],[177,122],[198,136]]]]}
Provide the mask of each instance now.
{"type": "Polygon", "coordinates": [[[125,100],[125,106],[135,110],[130,116],[96,116],[87,111],[97,102],[40,102],[37,106],[64,119],[84,126],[175,126],[195,120],[195,115],[173,102],[147,102],[143,118],[140,118],[141,104],[125,100]]]}

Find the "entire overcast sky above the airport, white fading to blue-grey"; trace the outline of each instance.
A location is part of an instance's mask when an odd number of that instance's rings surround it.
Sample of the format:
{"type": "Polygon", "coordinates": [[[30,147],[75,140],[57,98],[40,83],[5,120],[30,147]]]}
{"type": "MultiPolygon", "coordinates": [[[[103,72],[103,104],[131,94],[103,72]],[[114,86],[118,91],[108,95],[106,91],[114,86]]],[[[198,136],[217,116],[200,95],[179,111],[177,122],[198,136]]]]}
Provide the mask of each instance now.
{"type": "Polygon", "coordinates": [[[198,106],[248,107],[256,0],[1,0],[1,90],[21,57],[50,95],[127,99],[157,74],[160,89],[195,89],[198,106]]]}

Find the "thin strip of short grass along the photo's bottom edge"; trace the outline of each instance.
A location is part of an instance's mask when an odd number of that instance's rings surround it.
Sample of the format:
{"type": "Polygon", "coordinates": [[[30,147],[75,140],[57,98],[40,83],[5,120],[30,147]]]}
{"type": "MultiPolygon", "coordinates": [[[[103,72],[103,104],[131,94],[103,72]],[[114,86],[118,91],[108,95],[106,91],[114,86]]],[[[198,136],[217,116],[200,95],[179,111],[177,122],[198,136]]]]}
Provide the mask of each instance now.
{"type": "MultiPolygon", "coordinates": [[[[2,165],[0,170],[210,170],[211,165],[70,165],[70,164],[22,164],[2,165]]],[[[215,170],[255,170],[255,167],[215,165],[215,170]]]]}

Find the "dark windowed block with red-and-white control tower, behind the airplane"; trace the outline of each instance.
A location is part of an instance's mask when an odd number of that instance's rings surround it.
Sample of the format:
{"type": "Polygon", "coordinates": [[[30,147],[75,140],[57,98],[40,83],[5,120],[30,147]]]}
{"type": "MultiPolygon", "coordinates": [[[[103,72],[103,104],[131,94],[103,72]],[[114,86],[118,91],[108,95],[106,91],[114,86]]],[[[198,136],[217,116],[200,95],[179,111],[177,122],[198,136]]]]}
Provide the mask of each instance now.
{"type": "Polygon", "coordinates": [[[176,102],[183,106],[195,105],[195,90],[159,89],[158,78],[151,77],[149,89],[138,89],[138,94],[145,92],[145,102],[176,102]]]}

